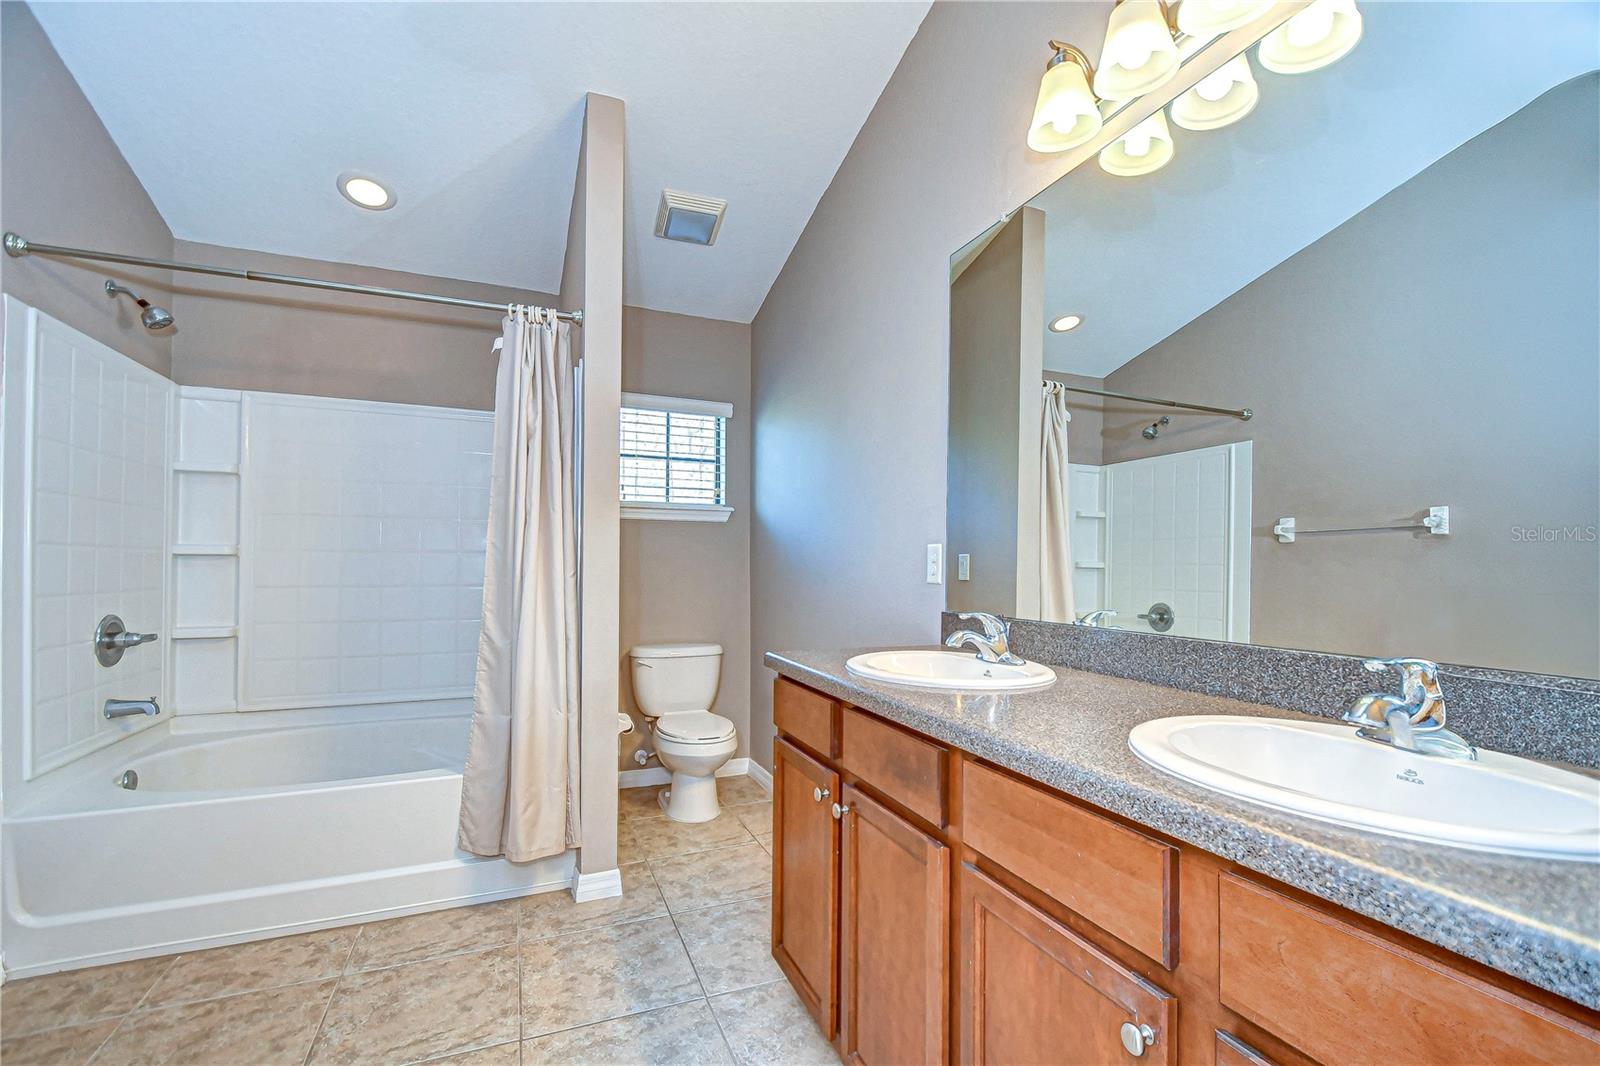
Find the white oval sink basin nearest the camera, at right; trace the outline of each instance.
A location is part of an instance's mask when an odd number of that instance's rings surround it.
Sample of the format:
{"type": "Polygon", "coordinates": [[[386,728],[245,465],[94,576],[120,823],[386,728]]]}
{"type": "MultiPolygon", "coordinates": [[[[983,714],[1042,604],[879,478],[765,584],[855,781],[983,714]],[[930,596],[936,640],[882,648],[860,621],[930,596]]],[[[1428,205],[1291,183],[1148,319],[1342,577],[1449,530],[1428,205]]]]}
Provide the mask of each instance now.
{"type": "Polygon", "coordinates": [[[1478,751],[1413,755],[1333,722],[1194,715],[1128,733],[1157,770],[1342,826],[1502,855],[1600,861],[1600,781],[1478,751]]]}

